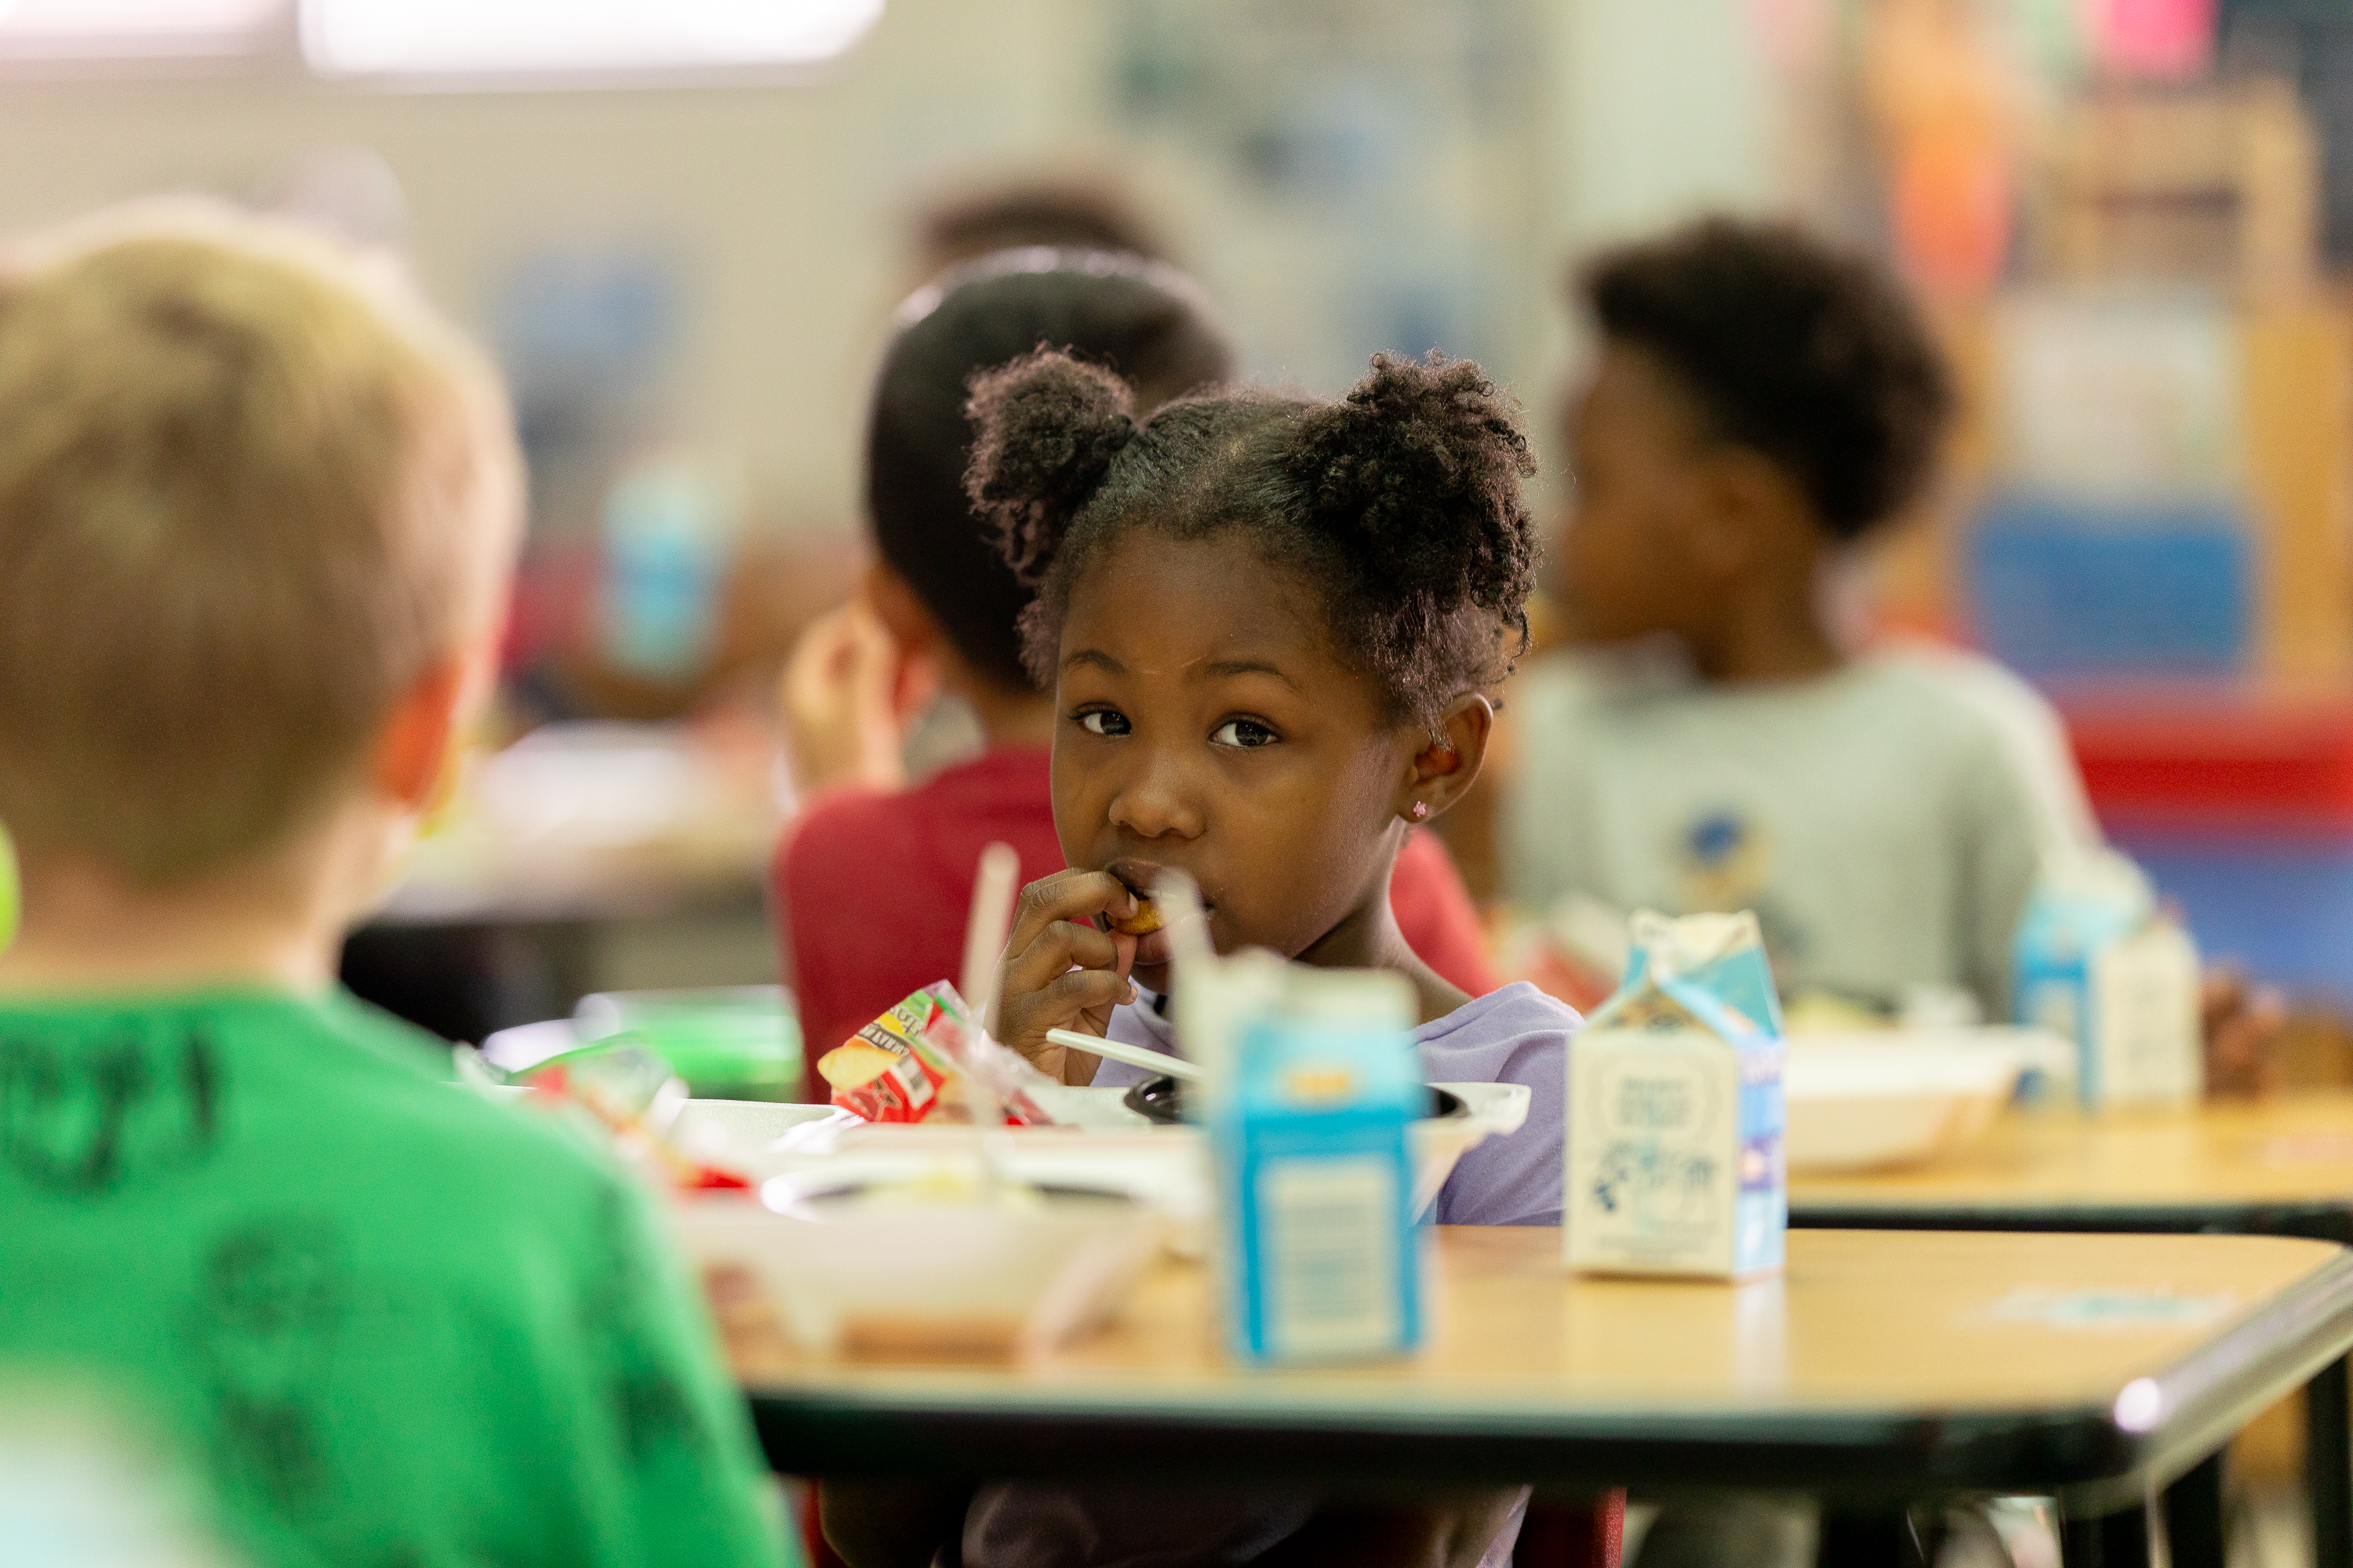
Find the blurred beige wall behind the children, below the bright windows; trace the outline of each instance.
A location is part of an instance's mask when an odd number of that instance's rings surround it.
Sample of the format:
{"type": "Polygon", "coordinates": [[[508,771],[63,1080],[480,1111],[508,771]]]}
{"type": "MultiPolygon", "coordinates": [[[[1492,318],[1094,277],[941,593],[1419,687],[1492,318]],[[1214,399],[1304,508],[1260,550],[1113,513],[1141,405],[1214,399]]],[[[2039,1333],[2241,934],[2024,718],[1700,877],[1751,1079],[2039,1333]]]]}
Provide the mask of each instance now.
{"type": "MultiPolygon", "coordinates": [[[[741,468],[755,515],[824,529],[854,522],[866,367],[915,282],[911,205],[960,179],[1120,172],[1231,308],[1252,369],[1318,390],[1372,348],[1421,346],[1384,343],[1377,310],[1334,315],[1327,296],[1355,287],[1379,303],[1419,287],[1435,341],[1482,353],[1546,416],[1567,343],[1565,254],[1694,202],[1758,200],[1769,183],[1741,0],[1454,0],[1457,21],[1506,28],[1499,47],[1525,75],[1511,78],[1504,113],[1475,103],[1482,118],[1461,134],[1431,129],[1445,103],[1393,115],[1426,169],[1386,205],[1301,202],[1238,172],[1198,125],[1141,122],[1120,101],[1132,40],[1118,35],[1139,2],[892,0],[831,71],[758,87],[402,94],[325,87],[285,66],[7,80],[0,228],[155,188],[245,193],[306,148],[374,148],[407,190],[421,277],[478,327],[534,249],[664,256],[687,306],[661,400],[668,425],[741,468]],[[1405,266],[1405,282],[1355,277],[1374,263],[1405,266]],[[1464,299],[1468,324],[1447,315],[1464,299]]],[[[1384,5],[1395,26],[1433,14],[1379,0],[1322,24],[1391,26],[1384,5]]],[[[1217,9],[1193,14],[1207,26],[1217,9]]],[[[1212,59],[1233,38],[1209,38],[1212,59]]],[[[1407,66],[1417,47],[1400,52],[1407,66]]],[[[1478,85],[1457,96],[1482,94],[1494,99],[1478,85]]],[[[1412,301],[1384,308],[1409,315],[1412,301]]]]}

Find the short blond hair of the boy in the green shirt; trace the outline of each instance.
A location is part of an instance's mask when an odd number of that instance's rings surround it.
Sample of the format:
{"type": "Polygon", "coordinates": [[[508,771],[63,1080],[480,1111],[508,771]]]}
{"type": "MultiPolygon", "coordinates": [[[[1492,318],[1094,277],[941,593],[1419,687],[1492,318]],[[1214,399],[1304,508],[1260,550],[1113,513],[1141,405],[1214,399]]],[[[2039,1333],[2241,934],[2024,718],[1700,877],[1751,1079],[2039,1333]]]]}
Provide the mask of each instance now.
{"type": "Polygon", "coordinates": [[[146,209],[0,263],[0,823],[141,884],[365,788],[496,623],[518,458],[388,266],[146,209]]]}

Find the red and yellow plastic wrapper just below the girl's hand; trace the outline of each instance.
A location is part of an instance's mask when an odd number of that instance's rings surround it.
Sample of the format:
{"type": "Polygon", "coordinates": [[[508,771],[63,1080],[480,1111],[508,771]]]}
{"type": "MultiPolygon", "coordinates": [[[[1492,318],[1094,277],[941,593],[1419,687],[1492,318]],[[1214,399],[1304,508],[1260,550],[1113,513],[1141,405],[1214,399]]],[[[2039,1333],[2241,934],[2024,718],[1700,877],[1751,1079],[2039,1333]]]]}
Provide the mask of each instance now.
{"type": "Polygon", "coordinates": [[[1031,1093],[1052,1079],[974,1027],[946,980],[826,1051],[816,1072],[835,1105],[868,1121],[1052,1124],[1031,1093]]]}

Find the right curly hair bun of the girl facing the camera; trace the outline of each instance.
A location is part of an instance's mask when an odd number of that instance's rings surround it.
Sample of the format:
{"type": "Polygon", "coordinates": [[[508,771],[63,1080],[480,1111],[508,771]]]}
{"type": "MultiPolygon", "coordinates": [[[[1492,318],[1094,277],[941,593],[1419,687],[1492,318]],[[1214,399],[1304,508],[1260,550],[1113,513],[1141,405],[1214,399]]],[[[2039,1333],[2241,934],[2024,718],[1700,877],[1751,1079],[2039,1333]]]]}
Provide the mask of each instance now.
{"type": "Polygon", "coordinates": [[[1478,364],[1374,355],[1348,397],[1301,416],[1292,463],[1311,522],[1374,581],[1440,616],[1478,604],[1525,628],[1537,529],[1520,480],[1537,458],[1478,364]]]}

